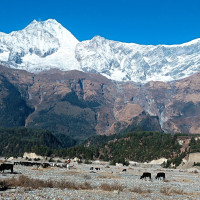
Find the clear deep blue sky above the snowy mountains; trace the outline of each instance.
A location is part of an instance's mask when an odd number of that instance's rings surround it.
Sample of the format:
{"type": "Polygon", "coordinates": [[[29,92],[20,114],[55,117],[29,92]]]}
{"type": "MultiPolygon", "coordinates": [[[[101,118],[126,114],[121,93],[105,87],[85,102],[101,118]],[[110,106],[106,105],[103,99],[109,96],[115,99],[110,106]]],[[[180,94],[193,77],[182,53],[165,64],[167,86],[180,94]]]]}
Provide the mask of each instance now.
{"type": "Polygon", "coordinates": [[[138,44],[200,38],[199,0],[0,0],[0,32],[56,19],[80,41],[100,35],[138,44]]]}

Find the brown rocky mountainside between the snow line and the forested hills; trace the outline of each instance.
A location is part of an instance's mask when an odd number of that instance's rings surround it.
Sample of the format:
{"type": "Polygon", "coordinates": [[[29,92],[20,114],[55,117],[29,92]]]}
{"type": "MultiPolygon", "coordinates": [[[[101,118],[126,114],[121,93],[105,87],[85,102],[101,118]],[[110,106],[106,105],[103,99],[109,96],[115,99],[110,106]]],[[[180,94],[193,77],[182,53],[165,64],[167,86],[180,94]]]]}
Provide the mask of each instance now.
{"type": "MultiPolygon", "coordinates": [[[[114,134],[127,127],[200,132],[199,74],[145,85],[80,71],[51,70],[36,75],[1,66],[0,74],[1,108],[10,108],[1,117],[9,116],[12,122],[15,113],[23,116],[14,126],[44,128],[76,139],[114,134]],[[15,105],[16,99],[21,106],[15,105]]],[[[6,120],[1,123],[11,126],[6,120]]]]}

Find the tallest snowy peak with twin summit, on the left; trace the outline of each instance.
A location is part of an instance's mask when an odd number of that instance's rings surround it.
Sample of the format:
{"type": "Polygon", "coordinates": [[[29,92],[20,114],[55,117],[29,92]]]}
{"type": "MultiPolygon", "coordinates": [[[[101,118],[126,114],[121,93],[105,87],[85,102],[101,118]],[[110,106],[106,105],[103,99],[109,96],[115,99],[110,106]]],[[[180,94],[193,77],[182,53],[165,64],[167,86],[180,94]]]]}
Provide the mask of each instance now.
{"type": "Polygon", "coordinates": [[[21,31],[0,33],[0,61],[29,72],[79,69],[74,55],[78,42],[56,20],[34,20],[21,31]]]}

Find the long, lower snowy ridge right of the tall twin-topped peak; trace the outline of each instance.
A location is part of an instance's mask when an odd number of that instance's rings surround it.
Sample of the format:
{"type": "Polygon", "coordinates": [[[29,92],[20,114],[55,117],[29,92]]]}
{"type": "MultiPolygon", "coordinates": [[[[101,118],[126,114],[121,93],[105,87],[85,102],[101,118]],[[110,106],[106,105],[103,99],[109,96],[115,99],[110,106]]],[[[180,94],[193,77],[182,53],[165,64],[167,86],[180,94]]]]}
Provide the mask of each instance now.
{"type": "Polygon", "coordinates": [[[171,81],[200,71],[200,39],[181,45],[139,45],[94,37],[76,46],[84,71],[118,81],[171,81]]]}

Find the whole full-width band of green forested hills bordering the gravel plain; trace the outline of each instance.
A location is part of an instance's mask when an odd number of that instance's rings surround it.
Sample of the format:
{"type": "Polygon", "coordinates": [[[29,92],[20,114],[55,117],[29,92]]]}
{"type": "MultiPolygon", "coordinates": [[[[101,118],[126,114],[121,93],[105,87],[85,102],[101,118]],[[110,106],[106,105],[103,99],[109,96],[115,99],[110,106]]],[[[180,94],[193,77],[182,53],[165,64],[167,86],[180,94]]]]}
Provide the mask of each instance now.
{"type": "Polygon", "coordinates": [[[51,132],[38,129],[0,129],[0,156],[22,156],[34,152],[42,156],[78,157],[88,160],[104,160],[110,164],[128,162],[150,162],[167,158],[164,167],[180,165],[189,153],[200,152],[199,136],[167,134],[160,132],[122,132],[110,136],[92,136],[77,144],[65,135],[54,136],[51,132]]]}

